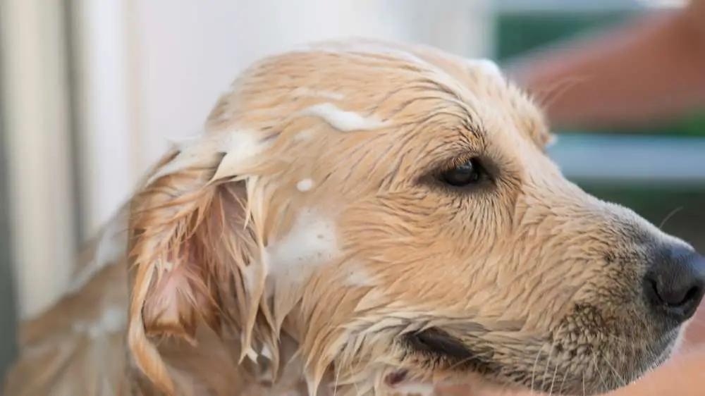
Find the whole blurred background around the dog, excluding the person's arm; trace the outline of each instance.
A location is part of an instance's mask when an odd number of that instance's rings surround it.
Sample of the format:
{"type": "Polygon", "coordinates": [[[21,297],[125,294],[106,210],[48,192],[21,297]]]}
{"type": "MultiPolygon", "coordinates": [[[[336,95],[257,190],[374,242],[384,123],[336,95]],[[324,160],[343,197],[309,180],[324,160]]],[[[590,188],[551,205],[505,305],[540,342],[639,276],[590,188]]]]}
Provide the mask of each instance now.
{"type": "MultiPolygon", "coordinates": [[[[55,301],[82,243],[256,58],[361,35],[505,61],[678,3],[0,0],[0,374],[16,321],[55,301]]],[[[551,154],[568,178],[705,249],[705,111],[557,132],[551,154]]]]}

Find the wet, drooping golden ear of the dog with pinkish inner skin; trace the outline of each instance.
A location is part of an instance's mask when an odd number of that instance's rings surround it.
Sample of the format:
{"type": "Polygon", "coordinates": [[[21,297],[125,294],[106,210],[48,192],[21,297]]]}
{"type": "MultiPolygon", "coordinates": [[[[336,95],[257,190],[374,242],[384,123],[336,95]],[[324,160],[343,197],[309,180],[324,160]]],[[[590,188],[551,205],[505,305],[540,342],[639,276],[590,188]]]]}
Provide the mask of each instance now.
{"type": "Polygon", "coordinates": [[[244,355],[261,321],[266,276],[262,213],[247,206],[251,180],[233,174],[226,152],[189,151],[164,156],[130,204],[128,344],[142,373],[167,394],[173,374],[156,342],[194,344],[199,326],[219,335],[228,326],[242,337],[244,355]]]}

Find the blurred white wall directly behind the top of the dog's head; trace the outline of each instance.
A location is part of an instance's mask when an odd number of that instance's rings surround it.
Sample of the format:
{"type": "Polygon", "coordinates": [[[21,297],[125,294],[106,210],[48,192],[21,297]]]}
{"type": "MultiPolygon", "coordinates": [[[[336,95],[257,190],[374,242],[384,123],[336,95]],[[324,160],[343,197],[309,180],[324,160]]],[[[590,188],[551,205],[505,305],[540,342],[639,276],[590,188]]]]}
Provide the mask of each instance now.
{"type": "Polygon", "coordinates": [[[197,132],[216,97],[264,54],[362,35],[489,53],[491,0],[103,0],[80,12],[89,232],[169,137],[197,132]],[[131,163],[130,159],[132,160],[131,163]]]}

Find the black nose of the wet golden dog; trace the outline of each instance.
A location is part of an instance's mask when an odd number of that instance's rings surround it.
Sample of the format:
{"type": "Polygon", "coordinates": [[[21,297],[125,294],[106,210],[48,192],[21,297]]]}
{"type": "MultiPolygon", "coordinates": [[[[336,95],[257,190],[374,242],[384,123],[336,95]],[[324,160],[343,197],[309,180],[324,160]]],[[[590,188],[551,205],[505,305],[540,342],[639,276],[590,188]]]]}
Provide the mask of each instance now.
{"type": "Polygon", "coordinates": [[[687,321],[705,294],[705,257],[685,247],[673,247],[655,259],[644,279],[647,300],[657,314],[687,321]]]}

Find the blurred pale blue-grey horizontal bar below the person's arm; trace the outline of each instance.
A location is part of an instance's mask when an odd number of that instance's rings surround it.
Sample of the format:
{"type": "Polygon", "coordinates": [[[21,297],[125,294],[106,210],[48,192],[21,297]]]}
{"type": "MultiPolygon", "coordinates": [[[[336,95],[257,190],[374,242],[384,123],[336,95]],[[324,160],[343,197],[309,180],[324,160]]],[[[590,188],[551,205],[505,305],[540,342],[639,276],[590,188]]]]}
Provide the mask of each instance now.
{"type": "Polygon", "coordinates": [[[548,151],[576,181],[705,186],[705,138],[558,135],[548,151]]]}

